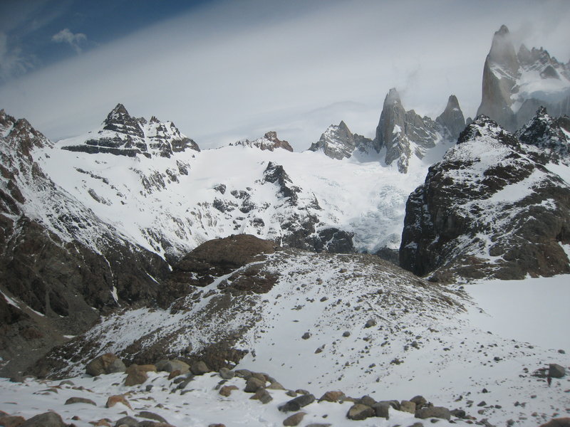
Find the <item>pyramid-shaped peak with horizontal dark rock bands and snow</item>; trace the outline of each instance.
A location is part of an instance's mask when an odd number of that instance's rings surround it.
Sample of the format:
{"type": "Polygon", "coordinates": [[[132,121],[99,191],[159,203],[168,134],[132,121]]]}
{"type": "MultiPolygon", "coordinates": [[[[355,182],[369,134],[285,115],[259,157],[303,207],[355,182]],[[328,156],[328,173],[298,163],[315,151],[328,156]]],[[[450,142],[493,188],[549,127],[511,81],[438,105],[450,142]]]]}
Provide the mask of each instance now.
{"type": "Polygon", "coordinates": [[[186,149],[199,151],[198,144],[182,135],[172,122],[160,122],[152,116],[150,122],[129,115],[123,104],[108,114],[97,137],[87,137],[83,144],[62,147],[73,152],[110,153],[120,156],[171,157],[186,149]]]}

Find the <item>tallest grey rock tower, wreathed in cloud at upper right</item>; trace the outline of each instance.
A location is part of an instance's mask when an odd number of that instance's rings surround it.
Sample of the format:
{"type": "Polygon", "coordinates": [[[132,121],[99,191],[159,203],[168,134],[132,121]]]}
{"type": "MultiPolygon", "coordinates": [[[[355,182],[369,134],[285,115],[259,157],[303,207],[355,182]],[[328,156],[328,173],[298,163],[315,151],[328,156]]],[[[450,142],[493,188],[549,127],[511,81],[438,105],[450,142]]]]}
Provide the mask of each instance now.
{"type": "Polygon", "coordinates": [[[521,45],[516,52],[509,28],[494,33],[484,63],[482,99],[477,115],[487,115],[509,131],[528,122],[538,107],[554,116],[570,115],[570,63],[543,48],[521,45]]]}

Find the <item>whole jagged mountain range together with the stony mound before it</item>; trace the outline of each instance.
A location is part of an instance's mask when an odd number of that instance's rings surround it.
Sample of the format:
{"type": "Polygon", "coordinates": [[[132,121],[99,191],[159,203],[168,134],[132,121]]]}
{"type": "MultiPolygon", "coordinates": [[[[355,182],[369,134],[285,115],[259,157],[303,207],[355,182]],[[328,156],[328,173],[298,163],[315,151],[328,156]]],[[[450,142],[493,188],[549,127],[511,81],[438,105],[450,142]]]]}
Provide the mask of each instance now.
{"type": "Polygon", "coordinates": [[[0,374],[113,352],[356,393],[420,348],[430,375],[467,360],[463,283],[570,273],[570,65],[514,52],[502,26],[475,120],[391,89],[374,139],[341,121],[301,153],[276,132],[200,150],[121,104],[54,143],[0,110],[0,374]]]}

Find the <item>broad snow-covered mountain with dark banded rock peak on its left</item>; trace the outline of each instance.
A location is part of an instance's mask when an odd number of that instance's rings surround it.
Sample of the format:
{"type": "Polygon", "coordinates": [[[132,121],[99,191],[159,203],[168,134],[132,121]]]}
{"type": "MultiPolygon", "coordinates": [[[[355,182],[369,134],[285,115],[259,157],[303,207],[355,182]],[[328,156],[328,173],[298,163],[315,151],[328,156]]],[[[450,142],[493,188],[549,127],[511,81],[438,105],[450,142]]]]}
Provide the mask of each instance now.
{"type": "Polygon", "coordinates": [[[398,248],[404,201],[432,161],[416,158],[402,180],[378,156],[339,163],[294,153],[275,132],[198,152],[176,130],[157,146],[143,122],[118,105],[99,130],[46,148],[41,167],[103,221],[170,261],[232,233],[316,251],[398,248]],[[180,146],[187,149],[170,150],[180,146]]]}

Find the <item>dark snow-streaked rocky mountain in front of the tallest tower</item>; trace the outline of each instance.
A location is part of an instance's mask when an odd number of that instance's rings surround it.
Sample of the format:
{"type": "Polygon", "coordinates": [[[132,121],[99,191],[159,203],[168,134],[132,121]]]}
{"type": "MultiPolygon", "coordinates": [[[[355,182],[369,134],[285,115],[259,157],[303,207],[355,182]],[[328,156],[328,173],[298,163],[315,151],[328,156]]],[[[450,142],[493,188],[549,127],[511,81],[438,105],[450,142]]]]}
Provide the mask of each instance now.
{"type": "Polygon", "coordinates": [[[400,265],[441,280],[569,273],[570,188],[546,167],[536,147],[477,117],[410,194],[400,265]]]}

